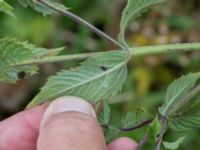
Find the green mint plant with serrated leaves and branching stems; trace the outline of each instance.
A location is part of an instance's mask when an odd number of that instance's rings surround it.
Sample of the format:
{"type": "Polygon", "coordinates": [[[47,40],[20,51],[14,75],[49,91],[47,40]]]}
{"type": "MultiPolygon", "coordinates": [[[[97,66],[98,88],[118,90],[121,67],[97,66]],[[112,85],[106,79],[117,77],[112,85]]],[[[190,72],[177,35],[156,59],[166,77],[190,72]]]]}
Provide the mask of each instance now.
{"type": "MultiPolygon", "coordinates": [[[[125,37],[128,24],[151,6],[160,4],[165,0],[128,0],[122,13],[119,40],[113,39],[92,24],[71,13],[61,3],[53,0],[18,1],[22,6],[31,7],[44,16],[53,13],[67,16],[119,48],[119,50],[109,52],[58,55],[64,48],[46,49],[28,42],[20,42],[17,39],[1,39],[0,81],[6,83],[16,83],[23,79],[26,74],[34,75],[39,69],[37,65],[41,63],[86,59],[75,69],[63,70],[58,72],[57,75],[49,77],[47,83],[28,104],[27,108],[65,95],[82,97],[97,106],[103,102],[104,108],[99,114],[99,122],[105,131],[107,142],[110,142],[120,132],[145,127],[147,132],[140,141],[138,149],[141,149],[149,138],[154,139],[156,150],[159,150],[162,145],[166,149],[177,149],[179,144],[184,141],[184,137],[180,137],[174,142],[164,141],[163,136],[168,128],[185,132],[200,127],[200,102],[197,98],[200,93],[200,72],[188,73],[176,79],[168,87],[163,105],[158,109],[157,114],[150,115],[143,109],[137,113],[127,113],[122,119],[121,127],[109,123],[111,110],[107,102],[121,90],[127,77],[127,63],[132,57],[200,50],[200,43],[145,47],[130,47],[128,45],[125,37]],[[141,113],[145,114],[145,118],[140,117],[141,113]]],[[[4,0],[0,0],[0,11],[17,19],[12,6],[4,0]]]]}

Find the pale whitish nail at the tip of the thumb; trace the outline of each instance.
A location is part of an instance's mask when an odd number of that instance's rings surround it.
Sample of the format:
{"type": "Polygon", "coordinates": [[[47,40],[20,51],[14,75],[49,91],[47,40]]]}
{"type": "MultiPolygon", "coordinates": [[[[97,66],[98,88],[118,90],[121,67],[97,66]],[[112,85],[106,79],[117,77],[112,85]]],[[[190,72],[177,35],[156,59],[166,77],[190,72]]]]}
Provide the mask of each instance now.
{"type": "Polygon", "coordinates": [[[94,109],[87,101],[79,97],[64,96],[55,99],[48,106],[40,126],[42,126],[51,115],[68,111],[80,112],[96,118],[94,109]]]}

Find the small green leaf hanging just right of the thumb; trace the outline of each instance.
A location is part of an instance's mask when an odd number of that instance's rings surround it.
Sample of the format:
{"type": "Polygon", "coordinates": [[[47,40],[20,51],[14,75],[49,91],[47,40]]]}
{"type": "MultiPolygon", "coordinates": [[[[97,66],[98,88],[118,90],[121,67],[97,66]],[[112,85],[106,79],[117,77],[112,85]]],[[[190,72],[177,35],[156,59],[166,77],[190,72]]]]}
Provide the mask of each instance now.
{"type": "Polygon", "coordinates": [[[98,120],[101,125],[108,125],[110,121],[110,106],[108,103],[104,103],[103,110],[100,112],[98,120]]]}

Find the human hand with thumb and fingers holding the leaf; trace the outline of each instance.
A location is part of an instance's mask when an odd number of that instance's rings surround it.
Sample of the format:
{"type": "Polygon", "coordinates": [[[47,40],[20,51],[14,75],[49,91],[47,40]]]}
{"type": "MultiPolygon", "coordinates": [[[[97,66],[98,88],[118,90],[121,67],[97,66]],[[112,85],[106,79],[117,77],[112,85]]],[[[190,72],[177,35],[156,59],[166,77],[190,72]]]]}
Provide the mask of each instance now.
{"type": "Polygon", "coordinates": [[[91,105],[77,97],[20,112],[0,122],[0,150],[135,150],[119,138],[106,146],[91,105]]]}

